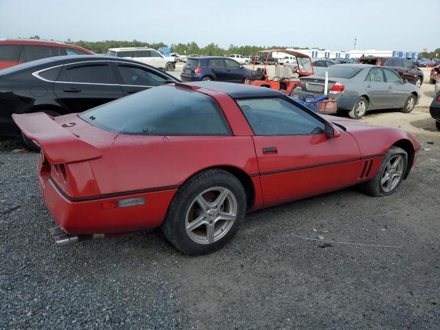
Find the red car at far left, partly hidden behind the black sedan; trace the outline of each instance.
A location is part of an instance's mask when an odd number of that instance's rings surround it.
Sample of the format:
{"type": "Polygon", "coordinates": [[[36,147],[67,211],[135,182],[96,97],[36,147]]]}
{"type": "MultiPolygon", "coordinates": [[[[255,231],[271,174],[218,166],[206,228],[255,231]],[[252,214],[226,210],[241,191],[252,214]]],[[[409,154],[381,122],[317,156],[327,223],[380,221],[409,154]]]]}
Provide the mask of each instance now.
{"type": "Polygon", "coordinates": [[[83,47],[36,39],[0,39],[0,69],[45,57],[93,55],[83,47]]]}

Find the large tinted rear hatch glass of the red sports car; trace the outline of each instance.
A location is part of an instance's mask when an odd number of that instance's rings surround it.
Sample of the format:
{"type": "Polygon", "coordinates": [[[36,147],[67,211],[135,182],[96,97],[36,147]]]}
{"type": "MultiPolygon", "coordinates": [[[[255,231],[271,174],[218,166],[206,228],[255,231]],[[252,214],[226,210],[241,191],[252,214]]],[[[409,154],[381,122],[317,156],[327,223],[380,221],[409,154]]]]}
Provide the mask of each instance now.
{"type": "Polygon", "coordinates": [[[231,135],[210,96],[170,86],[141,91],[79,117],[100,129],[129,135],[231,135]]]}

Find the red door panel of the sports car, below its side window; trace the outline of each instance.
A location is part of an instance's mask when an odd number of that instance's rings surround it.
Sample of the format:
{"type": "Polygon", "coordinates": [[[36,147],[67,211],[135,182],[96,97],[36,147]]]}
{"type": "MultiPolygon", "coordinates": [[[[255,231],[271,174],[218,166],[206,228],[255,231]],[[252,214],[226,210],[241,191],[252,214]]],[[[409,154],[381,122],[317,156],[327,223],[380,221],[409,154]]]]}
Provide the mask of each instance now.
{"type": "Polygon", "coordinates": [[[338,190],[358,178],[360,151],[347,132],[331,139],[325,135],[253,138],[265,207],[338,190]],[[271,147],[276,151],[263,152],[271,147]]]}

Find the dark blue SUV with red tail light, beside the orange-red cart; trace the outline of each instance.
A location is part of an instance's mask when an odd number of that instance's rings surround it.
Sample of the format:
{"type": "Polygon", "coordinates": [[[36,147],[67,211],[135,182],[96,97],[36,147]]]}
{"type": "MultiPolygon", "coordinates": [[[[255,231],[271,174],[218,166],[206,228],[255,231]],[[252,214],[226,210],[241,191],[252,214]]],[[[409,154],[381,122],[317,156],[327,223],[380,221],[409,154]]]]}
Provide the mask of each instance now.
{"type": "Polygon", "coordinates": [[[218,80],[243,84],[249,71],[232,58],[195,56],[187,58],[180,79],[182,81],[218,80]]]}

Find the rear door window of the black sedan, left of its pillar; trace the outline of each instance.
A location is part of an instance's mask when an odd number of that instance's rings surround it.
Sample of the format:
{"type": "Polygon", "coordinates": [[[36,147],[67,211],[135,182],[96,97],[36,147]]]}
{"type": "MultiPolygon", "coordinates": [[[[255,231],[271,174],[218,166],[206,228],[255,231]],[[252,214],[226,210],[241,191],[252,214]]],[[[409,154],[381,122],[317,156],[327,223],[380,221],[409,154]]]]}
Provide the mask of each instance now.
{"type": "Polygon", "coordinates": [[[67,67],[66,80],[72,83],[116,84],[109,65],[67,67]]]}

